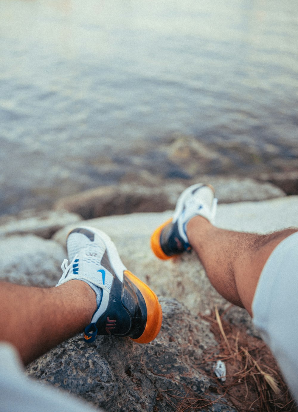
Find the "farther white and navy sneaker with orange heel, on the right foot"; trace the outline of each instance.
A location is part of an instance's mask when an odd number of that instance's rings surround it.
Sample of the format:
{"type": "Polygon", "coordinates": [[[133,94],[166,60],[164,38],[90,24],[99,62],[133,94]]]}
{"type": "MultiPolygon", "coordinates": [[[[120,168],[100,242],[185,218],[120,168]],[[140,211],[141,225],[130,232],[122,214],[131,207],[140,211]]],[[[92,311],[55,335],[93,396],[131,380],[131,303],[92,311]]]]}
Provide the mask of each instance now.
{"type": "Polygon", "coordinates": [[[196,215],[214,223],[217,199],[211,185],[198,183],[185,189],[177,201],[173,218],[157,227],[151,236],[151,248],[157,258],[166,260],[190,251],[186,226],[196,215]]]}

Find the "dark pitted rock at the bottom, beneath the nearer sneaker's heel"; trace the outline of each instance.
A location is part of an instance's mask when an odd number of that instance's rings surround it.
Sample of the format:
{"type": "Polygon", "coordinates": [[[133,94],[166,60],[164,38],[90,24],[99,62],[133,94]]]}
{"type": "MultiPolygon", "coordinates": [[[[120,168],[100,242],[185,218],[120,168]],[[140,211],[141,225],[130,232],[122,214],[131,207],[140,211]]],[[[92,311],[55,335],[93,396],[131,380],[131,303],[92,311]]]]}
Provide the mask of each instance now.
{"type": "MultiPolygon", "coordinates": [[[[162,329],[150,344],[101,336],[88,345],[78,335],[31,363],[28,375],[110,412],[173,411],[188,398],[216,400],[216,384],[202,369],[203,350],[216,344],[209,324],[176,300],[160,301],[162,329]]],[[[205,410],[234,411],[223,398],[205,410]]]]}

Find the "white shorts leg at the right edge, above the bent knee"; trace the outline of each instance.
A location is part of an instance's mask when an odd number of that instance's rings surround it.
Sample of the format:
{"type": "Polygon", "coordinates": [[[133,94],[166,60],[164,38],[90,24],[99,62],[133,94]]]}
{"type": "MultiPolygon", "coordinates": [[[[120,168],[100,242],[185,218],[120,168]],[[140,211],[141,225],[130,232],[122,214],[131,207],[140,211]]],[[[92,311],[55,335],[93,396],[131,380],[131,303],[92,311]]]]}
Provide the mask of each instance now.
{"type": "Polygon", "coordinates": [[[273,250],[252,302],[253,321],[298,400],[298,232],[273,250]]]}

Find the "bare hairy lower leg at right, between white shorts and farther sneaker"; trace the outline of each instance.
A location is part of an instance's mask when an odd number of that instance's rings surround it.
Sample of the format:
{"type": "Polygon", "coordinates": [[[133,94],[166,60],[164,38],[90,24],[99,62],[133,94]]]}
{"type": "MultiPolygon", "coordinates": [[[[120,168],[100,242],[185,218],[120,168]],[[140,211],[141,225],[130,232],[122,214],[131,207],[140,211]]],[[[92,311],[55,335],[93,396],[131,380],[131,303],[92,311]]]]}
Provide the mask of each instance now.
{"type": "Polygon", "coordinates": [[[267,235],[231,232],[211,225],[202,216],[187,224],[189,243],[199,256],[210,282],[230,302],[252,316],[252,300],[262,269],[275,247],[298,229],[267,235]]]}

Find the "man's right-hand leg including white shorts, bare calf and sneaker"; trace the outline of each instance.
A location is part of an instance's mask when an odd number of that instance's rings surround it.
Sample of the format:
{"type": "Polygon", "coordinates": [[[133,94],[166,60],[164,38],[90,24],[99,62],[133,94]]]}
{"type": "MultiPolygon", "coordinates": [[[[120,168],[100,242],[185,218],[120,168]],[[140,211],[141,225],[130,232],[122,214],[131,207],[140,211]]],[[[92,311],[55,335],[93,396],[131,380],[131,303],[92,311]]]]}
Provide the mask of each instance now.
{"type": "Polygon", "coordinates": [[[213,188],[190,186],[173,218],[153,232],[152,250],[166,260],[194,248],[217,291],[254,316],[298,400],[298,229],[267,235],[218,229],[215,211],[213,188]]]}

